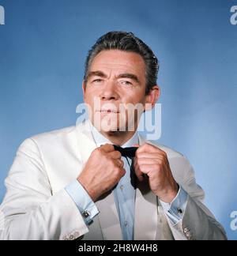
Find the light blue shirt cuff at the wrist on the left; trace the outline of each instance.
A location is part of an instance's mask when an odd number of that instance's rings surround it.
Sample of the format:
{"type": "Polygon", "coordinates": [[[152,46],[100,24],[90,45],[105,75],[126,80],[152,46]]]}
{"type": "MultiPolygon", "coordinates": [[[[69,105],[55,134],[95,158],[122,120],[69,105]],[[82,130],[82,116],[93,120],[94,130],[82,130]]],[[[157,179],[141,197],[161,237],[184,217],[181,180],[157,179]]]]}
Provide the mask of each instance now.
{"type": "Polygon", "coordinates": [[[99,210],[85,188],[81,186],[81,183],[76,179],[66,186],[65,190],[77,205],[77,208],[85,220],[85,224],[90,224],[92,219],[99,213],[99,210]]]}

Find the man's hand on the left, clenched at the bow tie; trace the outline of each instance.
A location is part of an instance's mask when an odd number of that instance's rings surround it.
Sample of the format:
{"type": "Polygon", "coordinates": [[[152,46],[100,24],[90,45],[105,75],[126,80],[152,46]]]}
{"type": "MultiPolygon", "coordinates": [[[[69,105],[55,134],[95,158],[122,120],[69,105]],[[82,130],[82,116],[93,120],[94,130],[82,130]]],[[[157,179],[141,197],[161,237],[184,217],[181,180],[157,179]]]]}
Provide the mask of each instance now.
{"type": "Polygon", "coordinates": [[[115,151],[113,145],[102,145],[92,152],[77,180],[87,190],[92,201],[96,201],[126,174],[123,165],[121,153],[115,151]]]}

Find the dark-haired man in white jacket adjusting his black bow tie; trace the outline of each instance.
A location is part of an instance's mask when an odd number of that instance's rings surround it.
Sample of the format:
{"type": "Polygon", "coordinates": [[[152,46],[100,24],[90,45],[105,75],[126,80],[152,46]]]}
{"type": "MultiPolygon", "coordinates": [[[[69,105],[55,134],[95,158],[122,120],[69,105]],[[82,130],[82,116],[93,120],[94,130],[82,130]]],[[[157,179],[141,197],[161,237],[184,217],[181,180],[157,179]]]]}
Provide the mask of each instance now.
{"type": "Polygon", "coordinates": [[[157,72],[156,56],[134,34],[97,40],[83,81],[89,121],[20,146],[1,239],[226,239],[188,160],[137,134],[141,113],[127,106],[156,104],[157,72]]]}

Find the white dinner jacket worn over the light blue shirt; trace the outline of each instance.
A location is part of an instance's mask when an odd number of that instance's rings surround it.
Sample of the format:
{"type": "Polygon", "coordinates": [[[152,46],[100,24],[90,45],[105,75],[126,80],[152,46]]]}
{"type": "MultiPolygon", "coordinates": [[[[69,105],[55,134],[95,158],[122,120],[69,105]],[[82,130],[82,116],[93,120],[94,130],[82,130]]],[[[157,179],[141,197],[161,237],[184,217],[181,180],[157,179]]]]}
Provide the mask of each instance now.
{"type": "MultiPolygon", "coordinates": [[[[145,140],[139,137],[139,143],[145,140]]],[[[179,152],[157,146],[167,152],[176,182],[188,193],[186,212],[173,226],[149,185],[140,183],[134,239],[226,239],[224,229],[201,203],[204,193],[188,160],[179,152]]],[[[96,202],[100,213],[88,227],[64,189],[77,179],[93,149],[96,143],[91,132],[80,125],[25,140],[6,179],[0,239],[122,239],[112,193],[96,202]]]]}

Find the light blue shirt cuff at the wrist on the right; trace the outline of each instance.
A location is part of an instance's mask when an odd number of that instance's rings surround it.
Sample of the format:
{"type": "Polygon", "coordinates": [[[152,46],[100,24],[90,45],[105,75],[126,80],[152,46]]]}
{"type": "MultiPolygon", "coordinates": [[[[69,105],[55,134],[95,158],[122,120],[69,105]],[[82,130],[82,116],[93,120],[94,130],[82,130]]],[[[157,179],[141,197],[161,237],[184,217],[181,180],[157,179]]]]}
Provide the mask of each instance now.
{"type": "Polygon", "coordinates": [[[171,203],[166,203],[160,200],[164,212],[174,225],[182,220],[182,216],[184,215],[186,209],[187,196],[188,194],[186,191],[183,190],[182,186],[179,186],[179,192],[171,203]]]}

